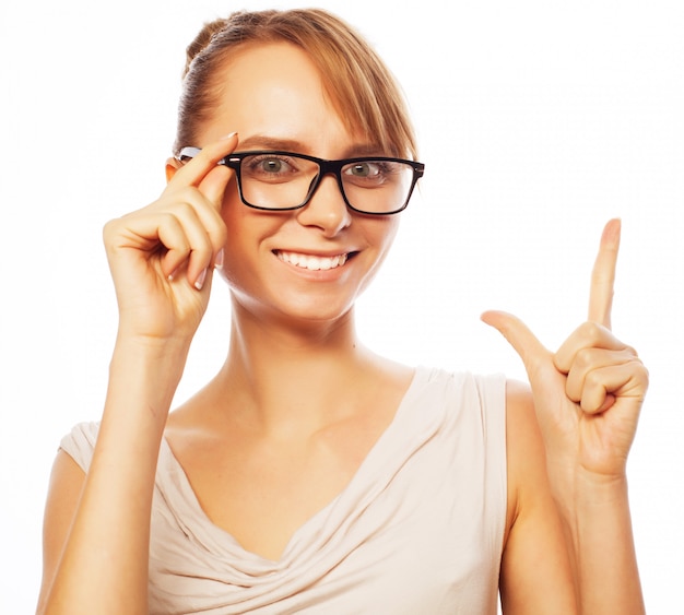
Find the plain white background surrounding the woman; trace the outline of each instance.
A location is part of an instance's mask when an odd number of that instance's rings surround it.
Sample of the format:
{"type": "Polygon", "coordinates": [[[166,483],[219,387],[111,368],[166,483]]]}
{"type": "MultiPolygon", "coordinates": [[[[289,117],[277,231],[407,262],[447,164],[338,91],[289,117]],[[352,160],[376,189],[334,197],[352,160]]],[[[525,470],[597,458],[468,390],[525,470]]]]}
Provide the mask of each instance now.
{"type": "MultiPolygon", "coordinates": [[[[614,329],[651,371],[629,473],[656,614],[681,612],[684,578],[680,4],[318,2],[387,59],[427,166],[393,256],[358,306],[370,346],[412,364],[523,377],[480,312],[510,310],[557,346],[585,317],[603,223],[622,217],[614,329]]],[[[184,50],[201,24],[271,7],[0,9],[0,613],[33,611],[57,445],[99,416],[116,328],[102,226],[163,188],[184,50]]],[[[216,284],[179,398],[222,362],[227,310],[216,284]]]]}

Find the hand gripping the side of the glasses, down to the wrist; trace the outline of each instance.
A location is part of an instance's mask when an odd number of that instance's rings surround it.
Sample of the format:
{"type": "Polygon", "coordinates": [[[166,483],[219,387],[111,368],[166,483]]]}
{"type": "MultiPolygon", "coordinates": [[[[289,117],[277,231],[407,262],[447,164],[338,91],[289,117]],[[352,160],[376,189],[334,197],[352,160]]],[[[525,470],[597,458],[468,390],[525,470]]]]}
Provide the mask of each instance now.
{"type": "Polygon", "coordinates": [[[182,166],[169,163],[158,200],[105,225],[119,335],[190,343],[226,241],[221,206],[233,172],[216,163],[236,144],[231,134],[182,166]]]}

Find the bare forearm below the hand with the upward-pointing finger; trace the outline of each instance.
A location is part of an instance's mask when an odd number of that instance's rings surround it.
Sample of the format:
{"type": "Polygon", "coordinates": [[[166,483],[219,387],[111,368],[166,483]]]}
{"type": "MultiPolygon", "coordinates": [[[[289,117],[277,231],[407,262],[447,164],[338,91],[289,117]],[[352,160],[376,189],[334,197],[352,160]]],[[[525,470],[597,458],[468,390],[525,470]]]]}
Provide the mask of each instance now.
{"type": "Polygon", "coordinates": [[[556,500],[566,523],[580,612],[645,613],[626,477],[597,483],[580,476],[573,484],[556,500]]]}

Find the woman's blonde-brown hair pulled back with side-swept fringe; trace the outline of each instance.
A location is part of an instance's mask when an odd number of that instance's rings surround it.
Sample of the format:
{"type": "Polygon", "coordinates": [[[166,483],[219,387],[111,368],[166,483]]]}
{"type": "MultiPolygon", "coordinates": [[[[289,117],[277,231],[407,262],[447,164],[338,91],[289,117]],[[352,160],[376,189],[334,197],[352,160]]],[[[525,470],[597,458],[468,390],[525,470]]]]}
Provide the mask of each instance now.
{"type": "Polygon", "coordinates": [[[319,9],[237,12],[204,25],[187,48],[175,153],[194,145],[221,100],[220,70],[238,47],[288,42],[320,71],[331,104],[350,132],[389,154],[417,157],[405,103],[385,62],[349,24],[319,9]]]}

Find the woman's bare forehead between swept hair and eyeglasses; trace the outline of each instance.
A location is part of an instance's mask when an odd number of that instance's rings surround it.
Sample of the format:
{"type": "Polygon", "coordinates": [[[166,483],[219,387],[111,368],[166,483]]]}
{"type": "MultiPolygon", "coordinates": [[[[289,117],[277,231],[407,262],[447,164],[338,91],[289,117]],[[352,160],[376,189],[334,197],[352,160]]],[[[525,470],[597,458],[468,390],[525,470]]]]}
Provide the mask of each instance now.
{"type": "Polygon", "coordinates": [[[326,95],[318,68],[295,45],[246,45],[228,58],[215,81],[220,103],[207,123],[207,141],[237,130],[240,141],[268,135],[335,156],[330,150],[347,149],[357,140],[326,95]]]}

